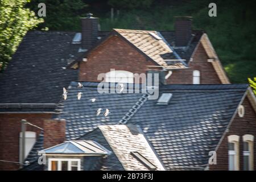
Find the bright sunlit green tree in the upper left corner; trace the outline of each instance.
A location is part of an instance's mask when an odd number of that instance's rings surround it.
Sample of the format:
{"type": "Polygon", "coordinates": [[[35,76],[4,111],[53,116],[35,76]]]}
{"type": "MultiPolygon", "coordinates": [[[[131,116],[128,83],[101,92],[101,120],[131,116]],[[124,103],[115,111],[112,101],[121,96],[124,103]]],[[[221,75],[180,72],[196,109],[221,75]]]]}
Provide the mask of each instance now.
{"type": "Polygon", "coordinates": [[[0,1],[0,70],[6,67],[20,40],[28,30],[43,22],[24,6],[28,0],[0,1]]]}

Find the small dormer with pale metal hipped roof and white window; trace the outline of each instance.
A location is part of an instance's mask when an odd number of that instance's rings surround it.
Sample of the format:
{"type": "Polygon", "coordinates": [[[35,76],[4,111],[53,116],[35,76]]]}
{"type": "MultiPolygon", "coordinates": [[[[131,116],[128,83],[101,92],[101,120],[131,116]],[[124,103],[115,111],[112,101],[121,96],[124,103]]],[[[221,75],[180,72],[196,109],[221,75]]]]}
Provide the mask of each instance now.
{"type": "Polygon", "coordinates": [[[80,171],[89,158],[101,160],[111,154],[93,140],[70,140],[39,152],[46,156],[48,171],[80,171]]]}

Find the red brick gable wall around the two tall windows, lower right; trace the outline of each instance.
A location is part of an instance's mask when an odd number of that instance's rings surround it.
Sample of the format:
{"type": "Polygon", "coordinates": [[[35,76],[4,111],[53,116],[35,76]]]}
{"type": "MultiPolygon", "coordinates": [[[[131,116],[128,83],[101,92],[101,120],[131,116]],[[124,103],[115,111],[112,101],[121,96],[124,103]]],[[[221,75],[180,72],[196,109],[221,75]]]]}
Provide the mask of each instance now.
{"type": "Polygon", "coordinates": [[[240,170],[243,170],[243,135],[250,134],[254,136],[254,170],[256,169],[256,114],[246,97],[242,105],[245,107],[245,115],[241,118],[237,114],[232,124],[230,125],[228,133],[226,133],[222,140],[220,147],[217,150],[217,164],[210,165],[210,170],[228,170],[228,136],[240,136],[240,170]]]}

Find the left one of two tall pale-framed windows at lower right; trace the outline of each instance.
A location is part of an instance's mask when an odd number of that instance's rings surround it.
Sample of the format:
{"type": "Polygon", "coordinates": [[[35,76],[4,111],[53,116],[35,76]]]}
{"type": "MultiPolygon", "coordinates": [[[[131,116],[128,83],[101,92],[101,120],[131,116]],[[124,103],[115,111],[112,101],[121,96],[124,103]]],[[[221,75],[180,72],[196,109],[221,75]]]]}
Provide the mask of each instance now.
{"type": "Polygon", "coordinates": [[[228,149],[228,165],[229,165],[229,171],[239,171],[239,136],[238,135],[229,135],[228,136],[228,143],[234,143],[234,150],[228,149]],[[230,156],[234,155],[234,169],[230,169],[230,156]]]}

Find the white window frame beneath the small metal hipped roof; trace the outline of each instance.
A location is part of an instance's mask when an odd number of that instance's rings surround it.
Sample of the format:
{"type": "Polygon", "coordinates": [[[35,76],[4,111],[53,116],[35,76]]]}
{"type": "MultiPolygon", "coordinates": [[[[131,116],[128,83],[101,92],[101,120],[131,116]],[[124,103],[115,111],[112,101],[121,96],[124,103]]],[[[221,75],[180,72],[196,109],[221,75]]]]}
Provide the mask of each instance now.
{"type": "Polygon", "coordinates": [[[68,162],[68,171],[71,171],[72,162],[77,162],[77,171],[81,171],[81,159],[71,159],[71,158],[49,158],[48,159],[48,171],[52,171],[52,161],[57,161],[57,171],[61,171],[61,162],[67,161],[68,162]]]}

